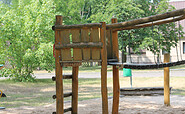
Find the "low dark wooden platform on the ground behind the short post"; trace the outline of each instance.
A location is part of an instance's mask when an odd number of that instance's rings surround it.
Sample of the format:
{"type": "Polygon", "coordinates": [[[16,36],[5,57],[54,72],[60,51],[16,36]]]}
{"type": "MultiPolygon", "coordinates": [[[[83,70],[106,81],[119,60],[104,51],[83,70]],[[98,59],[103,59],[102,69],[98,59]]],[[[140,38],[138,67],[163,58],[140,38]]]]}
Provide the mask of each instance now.
{"type": "MultiPolygon", "coordinates": [[[[170,87],[171,93],[172,87],[170,87]]],[[[132,88],[121,88],[120,95],[125,96],[156,96],[164,95],[163,87],[132,87],[132,88]]]]}

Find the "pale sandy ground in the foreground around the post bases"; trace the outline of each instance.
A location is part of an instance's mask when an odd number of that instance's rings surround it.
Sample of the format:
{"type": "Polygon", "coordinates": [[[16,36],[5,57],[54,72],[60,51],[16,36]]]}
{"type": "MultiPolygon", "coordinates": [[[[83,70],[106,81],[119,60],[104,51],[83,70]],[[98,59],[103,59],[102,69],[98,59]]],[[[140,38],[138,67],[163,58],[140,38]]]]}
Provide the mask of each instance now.
{"type": "MultiPolygon", "coordinates": [[[[171,96],[171,106],[163,105],[163,96],[123,96],[120,98],[119,114],[185,114],[185,96],[171,96]]],[[[70,103],[65,103],[70,107],[70,103]]],[[[101,99],[79,101],[79,114],[101,114],[101,99]]],[[[109,99],[109,113],[112,99],[109,99]]],[[[55,104],[40,107],[20,107],[0,110],[0,114],[51,114],[55,104]]],[[[70,114],[70,112],[66,113],[70,114]]]]}

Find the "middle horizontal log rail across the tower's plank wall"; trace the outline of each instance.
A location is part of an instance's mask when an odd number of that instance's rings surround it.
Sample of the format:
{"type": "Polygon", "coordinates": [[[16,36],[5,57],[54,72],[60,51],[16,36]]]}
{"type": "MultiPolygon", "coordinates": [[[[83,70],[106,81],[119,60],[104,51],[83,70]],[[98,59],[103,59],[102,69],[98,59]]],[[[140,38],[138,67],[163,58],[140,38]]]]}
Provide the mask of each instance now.
{"type": "Polygon", "coordinates": [[[94,42],[88,42],[88,43],[72,43],[72,44],[56,44],[55,49],[64,49],[64,48],[102,48],[103,44],[101,42],[94,43],[94,42]]]}

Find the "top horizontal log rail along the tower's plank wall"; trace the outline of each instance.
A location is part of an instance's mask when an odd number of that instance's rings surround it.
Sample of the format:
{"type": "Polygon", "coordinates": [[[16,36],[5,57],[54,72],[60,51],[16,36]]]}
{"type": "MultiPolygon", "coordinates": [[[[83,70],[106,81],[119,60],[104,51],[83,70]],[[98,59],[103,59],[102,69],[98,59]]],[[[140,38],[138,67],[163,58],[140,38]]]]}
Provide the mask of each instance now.
{"type": "Polygon", "coordinates": [[[88,23],[88,24],[78,24],[78,25],[55,25],[52,27],[53,30],[64,30],[64,29],[82,29],[82,28],[101,28],[101,23],[88,23]]]}

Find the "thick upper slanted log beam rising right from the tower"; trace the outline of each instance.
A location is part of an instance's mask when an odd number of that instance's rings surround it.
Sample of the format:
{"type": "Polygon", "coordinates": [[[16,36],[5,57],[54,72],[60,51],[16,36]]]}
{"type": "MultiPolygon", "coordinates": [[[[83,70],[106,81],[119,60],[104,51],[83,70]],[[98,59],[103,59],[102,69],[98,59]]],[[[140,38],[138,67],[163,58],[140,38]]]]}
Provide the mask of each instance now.
{"type": "Polygon", "coordinates": [[[140,19],[134,19],[131,21],[114,23],[114,24],[107,24],[106,29],[118,29],[118,28],[123,28],[123,27],[130,27],[130,26],[135,26],[135,25],[139,25],[139,24],[163,20],[163,19],[167,19],[167,18],[171,18],[171,17],[177,17],[177,16],[181,16],[184,14],[185,14],[185,8],[166,12],[163,14],[144,17],[144,18],[140,18],[140,19]]]}

